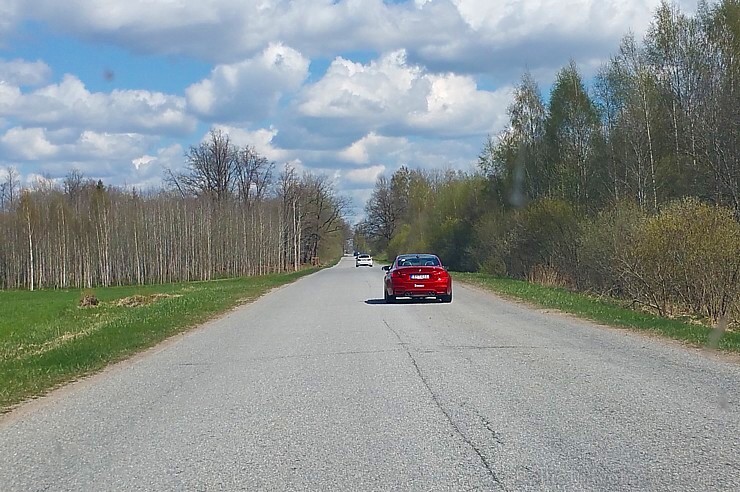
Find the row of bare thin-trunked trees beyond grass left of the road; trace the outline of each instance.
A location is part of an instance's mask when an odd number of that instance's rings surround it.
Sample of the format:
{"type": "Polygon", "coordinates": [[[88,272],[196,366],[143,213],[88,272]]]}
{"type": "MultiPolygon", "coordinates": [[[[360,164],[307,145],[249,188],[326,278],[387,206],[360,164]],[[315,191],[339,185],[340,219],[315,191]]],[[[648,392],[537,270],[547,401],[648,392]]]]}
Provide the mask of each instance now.
{"type": "Polygon", "coordinates": [[[0,182],[0,288],[90,288],[291,271],[341,254],[348,201],[214,130],[141,192],[85,178],[0,182]]]}

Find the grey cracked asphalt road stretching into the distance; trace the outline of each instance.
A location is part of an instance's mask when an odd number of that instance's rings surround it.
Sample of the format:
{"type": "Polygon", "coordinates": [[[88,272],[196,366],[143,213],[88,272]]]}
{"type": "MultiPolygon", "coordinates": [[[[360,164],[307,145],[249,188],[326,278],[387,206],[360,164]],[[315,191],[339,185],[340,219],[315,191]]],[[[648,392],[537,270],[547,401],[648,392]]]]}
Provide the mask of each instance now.
{"type": "Polygon", "coordinates": [[[0,490],[740,490],[740,366],[334,268],[0,420],[0,490]]]}

